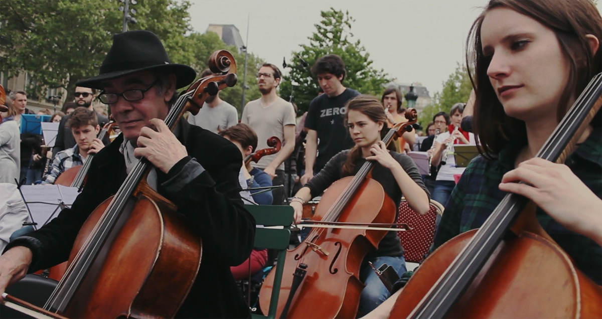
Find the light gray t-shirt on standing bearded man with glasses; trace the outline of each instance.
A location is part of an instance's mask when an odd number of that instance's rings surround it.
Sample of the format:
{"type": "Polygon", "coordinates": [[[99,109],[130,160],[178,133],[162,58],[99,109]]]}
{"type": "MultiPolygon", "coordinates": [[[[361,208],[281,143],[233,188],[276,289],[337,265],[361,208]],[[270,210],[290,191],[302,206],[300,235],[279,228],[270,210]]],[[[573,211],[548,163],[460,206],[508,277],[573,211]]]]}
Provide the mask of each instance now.
{"type": "MultiPolygon", "coordinates": [[[[257,149],[267,148],[270,137],[278,137],[284,145],[284,126],[295,125],[295,110],[293,104],[282,98],[276,99],[268,107],[261,105],[260,99],[247,103],[241,116],[241,122],[248,124],[257,134],[257,149]]],[[[253,167],[265,169],[278,156],[278,153],[263,156],[258,163],[251,163],[253,167]]],[[[278,166],[284,170],[284,162],[278,166]]]]}

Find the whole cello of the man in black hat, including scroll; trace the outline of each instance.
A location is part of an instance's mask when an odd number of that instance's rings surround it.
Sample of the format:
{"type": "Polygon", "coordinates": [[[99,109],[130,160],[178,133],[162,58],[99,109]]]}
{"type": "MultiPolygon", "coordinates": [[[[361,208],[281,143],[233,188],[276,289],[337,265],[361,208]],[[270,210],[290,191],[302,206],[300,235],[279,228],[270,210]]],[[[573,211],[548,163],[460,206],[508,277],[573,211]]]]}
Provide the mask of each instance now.
{"type": "MultiPolygon", "coordinates": [[[[236,84],[237,68],[228,51],[214,52],[209,68],[219,75],[194,82],[170,108],[164,122],[172,131],[185,111],[196,114],[206,98],[236,84]]],[[[140,159],[117,193],[90,214],[73,244],[66,274],[44,306],[45,314],[175,316],[196,279],[202,243],[175,204],[147,184],[151,169],[147,159],[140,159]],[[174,261],[177,273],[170,270],[174,261]]]]}

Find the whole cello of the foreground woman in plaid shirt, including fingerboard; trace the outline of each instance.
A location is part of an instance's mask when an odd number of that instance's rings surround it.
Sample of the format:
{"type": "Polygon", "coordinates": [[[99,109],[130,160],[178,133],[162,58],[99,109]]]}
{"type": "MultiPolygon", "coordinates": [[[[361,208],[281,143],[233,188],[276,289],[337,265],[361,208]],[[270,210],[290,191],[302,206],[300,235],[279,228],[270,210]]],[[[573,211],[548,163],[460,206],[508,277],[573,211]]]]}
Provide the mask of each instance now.
{"type": "MultiPolygon", "coordinates": [[[[602,73],[536,157],[564,163],[600,111],[601,96],[602,73]]],[[[535,212],[526,197],[507,194],[481,228],[447,241],[420,265],[389,318],[602,317],[602,286],[575,267],[535,212]]]]}

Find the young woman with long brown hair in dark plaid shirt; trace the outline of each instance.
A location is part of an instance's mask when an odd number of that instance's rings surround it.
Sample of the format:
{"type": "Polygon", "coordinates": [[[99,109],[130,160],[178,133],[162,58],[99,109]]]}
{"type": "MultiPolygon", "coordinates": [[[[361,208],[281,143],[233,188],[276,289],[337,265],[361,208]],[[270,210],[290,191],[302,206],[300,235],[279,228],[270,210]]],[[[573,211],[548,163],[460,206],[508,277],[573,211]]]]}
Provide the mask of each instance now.
{"type": "MultiPolygon", "coordinates": [[[[467,40],[482,156],[445,206],[435,249],[482,226],[507,192],[517,193],[535,202],[539,223],[576,267],[602,283],[600,112],[566,164],[535,158],[602,72],[600,39],[602,17],[591,0],[489,1],[467,40]]],[[[397,294],[365,318],[388,317],[397,294]]]]}

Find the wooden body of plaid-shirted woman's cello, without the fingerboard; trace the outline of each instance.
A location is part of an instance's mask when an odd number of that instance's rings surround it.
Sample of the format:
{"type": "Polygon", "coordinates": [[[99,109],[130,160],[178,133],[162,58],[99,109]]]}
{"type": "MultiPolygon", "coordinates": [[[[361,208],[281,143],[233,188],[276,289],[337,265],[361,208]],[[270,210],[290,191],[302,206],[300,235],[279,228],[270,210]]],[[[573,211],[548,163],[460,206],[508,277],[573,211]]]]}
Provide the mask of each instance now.
{"type": "MultiPolygon", "coordinates": [[[[528,215],[535,219],[535,211],[528,215]]],[[[389,318],[411,317],[476,232],[435,250],[403,288],[389,318]]],[[[602,287],[575,268],[543,229],[509,232],[447,317],[602,318],[602,287]]]]}

